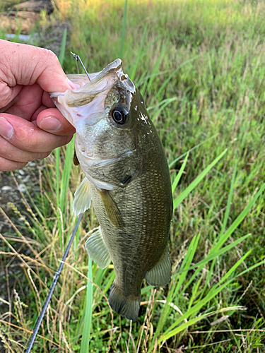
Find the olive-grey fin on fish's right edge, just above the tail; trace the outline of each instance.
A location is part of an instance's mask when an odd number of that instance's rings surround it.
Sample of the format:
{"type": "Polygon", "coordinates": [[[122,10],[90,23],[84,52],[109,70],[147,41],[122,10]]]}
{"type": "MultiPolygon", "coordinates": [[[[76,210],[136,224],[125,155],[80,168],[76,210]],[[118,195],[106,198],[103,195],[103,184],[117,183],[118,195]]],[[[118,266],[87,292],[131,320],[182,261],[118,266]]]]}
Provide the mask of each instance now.
{"type": "Polygon", "coordinates": [[[171,263],[168,249],[166,249],[158,263],[146,273],[146,281],[149,285],[164,287],[170,282],[170,277],[171,263]]]}

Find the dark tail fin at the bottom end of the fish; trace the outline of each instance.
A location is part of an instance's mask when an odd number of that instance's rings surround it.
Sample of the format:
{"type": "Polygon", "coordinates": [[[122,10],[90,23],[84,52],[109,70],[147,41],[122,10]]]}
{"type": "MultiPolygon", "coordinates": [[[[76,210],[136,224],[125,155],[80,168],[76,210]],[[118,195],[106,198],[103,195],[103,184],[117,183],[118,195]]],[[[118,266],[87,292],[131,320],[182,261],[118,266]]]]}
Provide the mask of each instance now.
{"type": "Polygon", "coordinates": [[[115,285],[115,281],[112,283],[110,289],[110,306],[112,310],[119,313],[120,316],[125,316],[129,320],[136,321],[139,315],[141,293],[138,298],[130,299],[124,297],[122,291],[115,285]]]}

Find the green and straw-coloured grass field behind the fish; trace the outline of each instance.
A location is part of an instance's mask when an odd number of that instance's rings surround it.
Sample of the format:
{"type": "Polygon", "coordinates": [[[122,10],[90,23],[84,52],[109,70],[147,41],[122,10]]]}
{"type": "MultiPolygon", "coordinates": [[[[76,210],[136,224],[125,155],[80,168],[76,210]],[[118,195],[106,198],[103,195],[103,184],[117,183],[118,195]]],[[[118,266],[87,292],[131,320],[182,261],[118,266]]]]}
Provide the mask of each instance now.
{"type": "MultiPolygon", "coordinates": [[[[77,72],[70,51],[88,72],[121,57],[158,128],[175,208],[172,280],[143,285],[136,323],[112,313],[112,265],[100,270],[84,248],[98,226],[90,210],[33,352],[265,352],[264,1],[56,4],[54,18],[71,22],[64,71],[77,72]]],[[[0,306],[8,353],[23,352],[76,222],[72,157],[73,141],[47,158],[40,193],[25,191],[25,210],[10,212],[15,240],[1,235],[1,264],[15,255],[23,268],[0,306]]]]}

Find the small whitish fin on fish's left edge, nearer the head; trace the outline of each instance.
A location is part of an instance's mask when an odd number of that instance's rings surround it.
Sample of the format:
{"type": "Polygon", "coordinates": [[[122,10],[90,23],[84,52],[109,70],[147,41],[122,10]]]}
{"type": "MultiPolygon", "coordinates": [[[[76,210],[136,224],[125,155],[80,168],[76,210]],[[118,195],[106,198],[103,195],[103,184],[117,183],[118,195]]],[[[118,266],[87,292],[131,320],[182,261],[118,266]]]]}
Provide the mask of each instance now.
{"type": "Polygon", "coordinates": [[[80,213],[85,212],[90,208],[91,205],[91,197],[90,197],[90,190],[88,179],[83,179],[81,184],[76,189],[74,193],[74,200],[73,200],[73,213],[77,216],[80,213]]]}

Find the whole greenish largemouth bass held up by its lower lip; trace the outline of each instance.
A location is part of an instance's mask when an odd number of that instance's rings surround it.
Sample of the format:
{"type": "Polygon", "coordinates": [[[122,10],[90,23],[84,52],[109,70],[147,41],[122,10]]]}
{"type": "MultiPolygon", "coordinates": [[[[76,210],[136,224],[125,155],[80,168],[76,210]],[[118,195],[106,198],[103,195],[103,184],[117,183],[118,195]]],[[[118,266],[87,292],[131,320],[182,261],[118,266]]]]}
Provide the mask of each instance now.
{"type": "Polygon", "coordinates": [[[76,128],[74,160],[85,178],[73,213],[88,210],[92,200],[100,224],[86,241],[88,256],[100,268],[112,261],[110,306],[136,321],[143,279],[159,287],[170,282],[170,172],[143,97],[123,73],[122,61],[89,77],[69,75],[76,89],[50,96],[76,128]]]}

